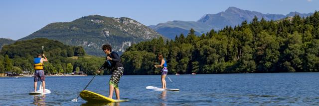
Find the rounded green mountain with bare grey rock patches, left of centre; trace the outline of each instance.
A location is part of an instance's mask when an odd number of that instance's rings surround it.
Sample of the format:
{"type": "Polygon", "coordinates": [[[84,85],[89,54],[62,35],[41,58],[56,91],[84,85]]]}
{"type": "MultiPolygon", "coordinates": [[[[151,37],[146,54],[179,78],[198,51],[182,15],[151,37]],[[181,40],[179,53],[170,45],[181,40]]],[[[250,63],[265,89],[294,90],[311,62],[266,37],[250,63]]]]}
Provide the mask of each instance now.
{"type": "Polygon", "coordinates": [[[90,15],[72,22],[51,23],[20,40],[47,38],[67,45],[82,46],[90,55],[104,55],[103,44],[122,53],[132,44],[161,37],[147,26],[126,17],[90,15]]]}

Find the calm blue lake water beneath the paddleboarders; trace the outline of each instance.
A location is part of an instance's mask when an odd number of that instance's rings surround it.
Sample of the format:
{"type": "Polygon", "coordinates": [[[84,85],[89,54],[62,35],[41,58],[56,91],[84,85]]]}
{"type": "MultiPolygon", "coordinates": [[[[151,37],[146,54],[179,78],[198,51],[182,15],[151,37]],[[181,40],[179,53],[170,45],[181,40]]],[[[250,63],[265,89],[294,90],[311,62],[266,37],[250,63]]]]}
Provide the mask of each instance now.
{"type": "MultiPolygon", "coordinates": [[[[130,101],[113,104],[88,104],[81,98],[71,102],[93,76],[46,77],[46,89],[51,94],[45,96],[28,95],[33,91],[33,77],[0,78],[0,106],[319,105],[318,72],[168,76],[173,82],[166,77],[167,88],[180,89],[179,92],[146,90],[147,86],[161,87],[160,75],[124,75],[120,96],[130,101]]],[[[95,77],[87,90],[108,96],[109,78],[95,77]]]]}

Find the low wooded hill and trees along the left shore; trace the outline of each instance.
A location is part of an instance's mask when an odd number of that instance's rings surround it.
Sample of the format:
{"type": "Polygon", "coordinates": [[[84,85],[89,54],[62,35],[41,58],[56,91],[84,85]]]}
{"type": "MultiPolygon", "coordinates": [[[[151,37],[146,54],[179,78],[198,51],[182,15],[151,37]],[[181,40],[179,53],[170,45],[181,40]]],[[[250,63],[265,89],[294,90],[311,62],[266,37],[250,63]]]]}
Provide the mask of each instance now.
{"type": "Polygon", "coordinates": [[[44,70],[47,75],[70,74],[79,71],[92,75],[105,59],[86,55],[82,47],[67,46],[58,41],[37,38],[3,46],[0,52],[0,73],[9,71],[33,74],[33,58],[38,53],[42,53],[42,46],[44,46],[44,54],[48,59],[48,62],[44,62],[44,70]]]}

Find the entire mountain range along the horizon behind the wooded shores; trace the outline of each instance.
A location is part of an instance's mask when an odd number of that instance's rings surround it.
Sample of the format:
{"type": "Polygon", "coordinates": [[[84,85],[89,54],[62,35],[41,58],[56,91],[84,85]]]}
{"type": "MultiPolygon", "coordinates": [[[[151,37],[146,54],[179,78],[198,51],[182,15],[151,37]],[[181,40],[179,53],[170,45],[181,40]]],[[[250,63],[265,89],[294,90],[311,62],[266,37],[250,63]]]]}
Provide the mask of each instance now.
{"type": "MultiPolygon", "coordinates": [[[[60,41],[71,46],[82,46],[90,55],[105,55],[101,51],[103,44],[111,44],[112,50],[120,54],[127,47],[141,41],[151,40],[164,36],[166,39],[174,39],[181,33],[187,35],[193,28],[196,35],[206,33],[211,29],[219,30],[226,25],[235,26],[242,21],[250,22],[254,16],[265,20],[280,20],[295,14],[301,17],[313,13],[290,12],[287,15],[263,14],[256,11],[243,10],[236,7],[229,7],[217,14],[205,14],[197,21],[168,21],[157,25],[145,26],[131,18],[105,17],[100,15],[84,16],[71,22],[50,23],[40,30],[22,38],[28,40],[34,38],[47,38],[60,41]],[[153,30],[152,30],[153,29],[153,30]],[[155,30],[155,31],[154,31],[155,30]]],[[[0,39],[0,49],[3,45],[14,43],[14,40],[0,39]]]]}

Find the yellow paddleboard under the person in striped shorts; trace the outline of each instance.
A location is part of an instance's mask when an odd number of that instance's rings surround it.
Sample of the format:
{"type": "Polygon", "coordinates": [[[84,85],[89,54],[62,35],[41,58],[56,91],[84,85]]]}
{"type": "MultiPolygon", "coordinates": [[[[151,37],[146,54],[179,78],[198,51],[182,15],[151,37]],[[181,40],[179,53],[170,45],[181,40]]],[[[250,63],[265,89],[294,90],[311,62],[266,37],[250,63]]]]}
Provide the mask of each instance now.
{"type": "Polygon", "coordinates": [[[87,90],[83,90],[80,93],[80,97],[90,103],[115,103],[115,102],[126,102],[129,100],[113,100],[107,97],[104,97],[103,95],[91,92],[91,91],[87,91],[87,90]]]}

